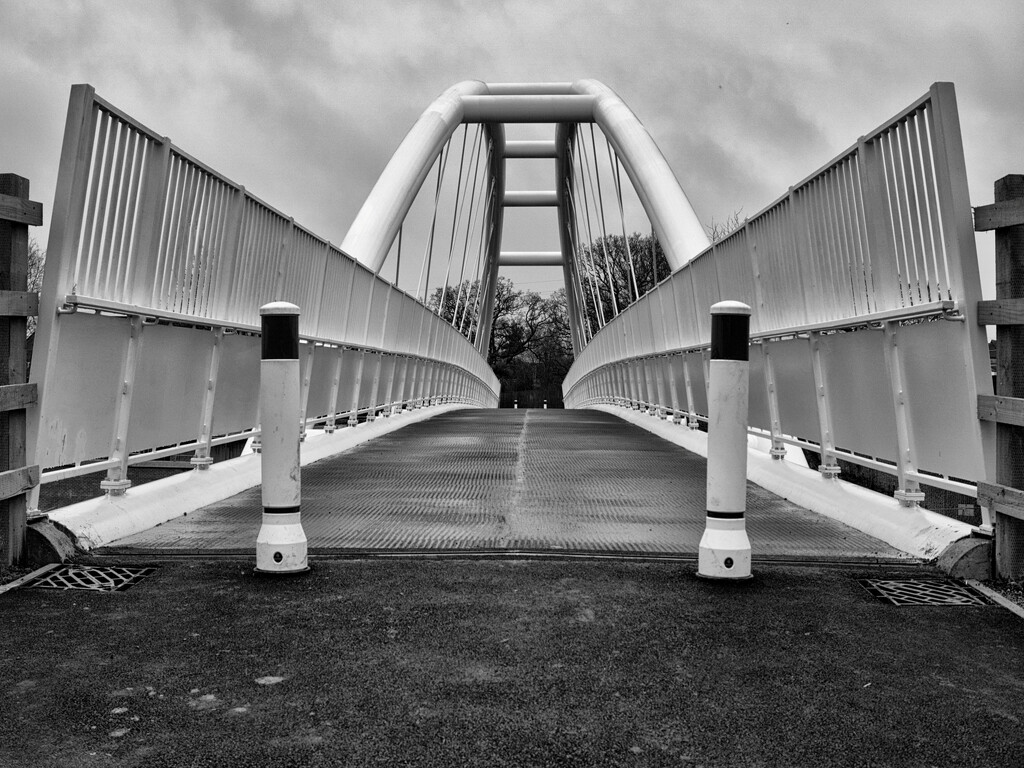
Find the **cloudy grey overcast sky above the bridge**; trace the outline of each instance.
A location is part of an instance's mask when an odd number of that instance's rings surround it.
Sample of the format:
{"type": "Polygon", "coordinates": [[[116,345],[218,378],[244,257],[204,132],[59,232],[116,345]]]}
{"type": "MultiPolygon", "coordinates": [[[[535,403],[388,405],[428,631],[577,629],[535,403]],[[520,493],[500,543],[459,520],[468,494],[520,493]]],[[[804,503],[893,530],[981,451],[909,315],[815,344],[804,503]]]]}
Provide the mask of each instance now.
{"type": "MultiPolygon", "coordinates": [[[[29,177],[48,212],[69,89],[90,83],[340,243],[449,86],[595,78],[708,223],[758,212],[941,80],[956,86],[980,205],[1024,173],[1022,72],[1019,0],[0,0],[0,171],[29,177]]],[[[548,276],[525,275],[542,290],[548,276]]]]}

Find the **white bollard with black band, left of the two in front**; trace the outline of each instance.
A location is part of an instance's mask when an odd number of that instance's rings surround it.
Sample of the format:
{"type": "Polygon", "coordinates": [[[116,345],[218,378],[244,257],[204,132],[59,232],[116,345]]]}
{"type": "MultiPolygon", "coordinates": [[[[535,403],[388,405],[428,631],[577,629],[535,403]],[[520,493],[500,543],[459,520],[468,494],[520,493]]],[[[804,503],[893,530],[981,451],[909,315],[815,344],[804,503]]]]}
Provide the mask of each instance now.
{"type": "Polygon", "coordinates": [[[299,511],[299,308],[274,301],[259,313],[263,524],[256,538],[256,572],[302,573],[309,565],[299,511]]]}

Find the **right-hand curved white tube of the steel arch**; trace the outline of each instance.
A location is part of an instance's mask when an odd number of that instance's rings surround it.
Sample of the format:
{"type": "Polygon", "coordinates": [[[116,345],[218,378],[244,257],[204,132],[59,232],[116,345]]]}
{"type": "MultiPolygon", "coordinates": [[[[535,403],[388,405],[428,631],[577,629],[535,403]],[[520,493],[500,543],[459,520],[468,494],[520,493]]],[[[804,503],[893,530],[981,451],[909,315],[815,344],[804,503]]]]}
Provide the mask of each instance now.
{"type": "Polygon", "coordinates": [[[675,271],[711,245],[676,174],[647,129],[613,90],[597,80],[578,80],[572,90],[595,97],[594,122],[622,160],[675,271]]]}

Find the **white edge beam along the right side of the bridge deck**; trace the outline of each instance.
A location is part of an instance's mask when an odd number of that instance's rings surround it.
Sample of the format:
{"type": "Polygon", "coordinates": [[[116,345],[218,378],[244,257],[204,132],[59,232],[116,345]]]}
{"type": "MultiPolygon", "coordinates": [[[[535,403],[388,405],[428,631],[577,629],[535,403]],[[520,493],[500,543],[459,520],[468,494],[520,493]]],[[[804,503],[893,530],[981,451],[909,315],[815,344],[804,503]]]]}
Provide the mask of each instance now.
{"type": "MultiPolygon", "coordinates": [[[[707,458],[708,435],[685,425],[615,406],[593,406],[670,442],[707,458]]],[[[752,438],[751,443],[767,442],[752,438]]],[[[766,490],[880,539],[909,557],[934,560],[953,543],[970,537],[972,526],[927,509],[903,507],[890,497],[842,480],[829,480],[797,461],[772,459],[766,451],[748,446],[746,477],[766,490]],[[800,465],[803,466],[800,466],[800,465]]]]}

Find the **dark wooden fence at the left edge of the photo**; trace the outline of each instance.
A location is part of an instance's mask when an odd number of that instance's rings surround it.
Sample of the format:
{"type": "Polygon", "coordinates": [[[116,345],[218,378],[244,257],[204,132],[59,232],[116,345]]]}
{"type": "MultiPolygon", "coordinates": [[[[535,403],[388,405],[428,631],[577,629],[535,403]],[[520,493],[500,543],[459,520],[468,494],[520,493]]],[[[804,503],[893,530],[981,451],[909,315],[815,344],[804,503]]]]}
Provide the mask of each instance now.
{"type": "Polygon", "coordinates": [[[39,311],[29,291],[29,226],[43,222],[43,207],[29,201],[29,179],[0,174],[0,565],[22,559],[26,492],[39,482],[39,468],[26,467],[25,409],[36,402],[26,383],[26,328],[39,311]]]}

